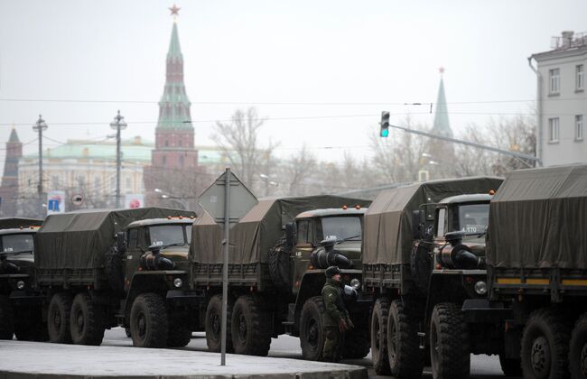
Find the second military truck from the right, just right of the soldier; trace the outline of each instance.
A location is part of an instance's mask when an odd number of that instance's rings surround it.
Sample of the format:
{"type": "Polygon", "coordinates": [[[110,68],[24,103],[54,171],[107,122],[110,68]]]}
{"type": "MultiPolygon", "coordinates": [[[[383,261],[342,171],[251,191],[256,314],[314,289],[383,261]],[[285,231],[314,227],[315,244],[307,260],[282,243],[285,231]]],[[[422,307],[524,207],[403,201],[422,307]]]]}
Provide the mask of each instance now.
{"type": "Polygon", "coordinates": [[[453,356],[470,346],[474,353],[498,352],[487,343],[491,330],[485,326],[485,334],[471,332],[476,339],[467,344],[452,344],[446,335],[465,333],[465,300],[487,296],[483,236],[491,191],[501,181],[415,183],[382,191],[368,208],[363,291],[373,301],[370,339],[377,374],[420,377],[430,359],[435,378],[461,378],[469,373],[470,355],[453,356]]]}

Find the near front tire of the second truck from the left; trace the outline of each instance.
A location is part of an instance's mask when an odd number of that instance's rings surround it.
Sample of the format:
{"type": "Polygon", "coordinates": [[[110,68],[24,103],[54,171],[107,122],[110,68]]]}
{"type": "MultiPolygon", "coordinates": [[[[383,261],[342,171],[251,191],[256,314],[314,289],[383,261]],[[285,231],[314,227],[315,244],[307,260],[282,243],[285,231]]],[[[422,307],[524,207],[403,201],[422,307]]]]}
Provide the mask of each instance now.
{"type": "Polygon", "coordinates": [[[135,347],[165,347],[167,343],[167,307],[157,293],[143,293],[130,310],[130,334],[135,347]]]}

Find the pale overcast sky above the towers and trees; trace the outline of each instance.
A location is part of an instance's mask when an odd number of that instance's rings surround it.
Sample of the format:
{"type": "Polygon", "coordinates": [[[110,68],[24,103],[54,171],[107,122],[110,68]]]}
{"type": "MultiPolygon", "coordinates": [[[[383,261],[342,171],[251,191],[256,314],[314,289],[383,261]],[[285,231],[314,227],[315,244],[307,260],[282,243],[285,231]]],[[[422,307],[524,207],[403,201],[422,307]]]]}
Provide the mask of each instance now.
{"type": "MultiPolygon", "coordinates": [[[[112,134],[117,109],[129,125],[125,137],[153,141],[172,5],[0,0],[0,147],[13,124],[21,141],[32,141],[39,114],[51,140],[98,139],[112,134]]],[[[549,50],[564,30],[587,32],[585,0],[177,5],[196,144],[212,144],[214,120],[256,106],[268,118],[263,142],[280,141],[282,156],[303,143],[322,158],[368,155],[382,110],[392,123],[410,113],[432,125],[428,106],[403,104],[435,101],[439,67],[457,134],[490,116],[528,113],[536,77],[527,57],[549,50]]],[[[24,149],[35,153],[36,142],[24,149]]]]}

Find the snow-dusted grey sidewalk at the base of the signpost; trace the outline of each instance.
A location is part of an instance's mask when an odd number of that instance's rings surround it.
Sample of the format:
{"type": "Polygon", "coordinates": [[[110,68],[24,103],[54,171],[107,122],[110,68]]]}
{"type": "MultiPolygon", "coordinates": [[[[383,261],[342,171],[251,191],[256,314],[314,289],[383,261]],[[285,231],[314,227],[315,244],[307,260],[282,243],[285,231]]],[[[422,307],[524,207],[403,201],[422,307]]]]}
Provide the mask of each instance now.
{"type": "Polygon", "coordinates": [[[137,347],[86,347],[0,341],[0,379],[57,378],[287,378],[363,379],[367,369],[298,359],[220,355],[137,347]]]}

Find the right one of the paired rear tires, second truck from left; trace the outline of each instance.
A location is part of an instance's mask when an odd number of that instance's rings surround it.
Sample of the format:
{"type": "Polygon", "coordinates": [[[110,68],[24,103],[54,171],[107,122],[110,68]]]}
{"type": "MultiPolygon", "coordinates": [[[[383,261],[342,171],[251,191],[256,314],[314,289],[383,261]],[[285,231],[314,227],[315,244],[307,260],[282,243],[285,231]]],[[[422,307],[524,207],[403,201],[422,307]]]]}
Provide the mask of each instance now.
{"type": "Polygon", "coordinates": [[[71,342],[75,345],[99,346],[104,338],[104,329],[104,309],[94,304],[89,293],[78,293],[71,303],[71,342]]]}

